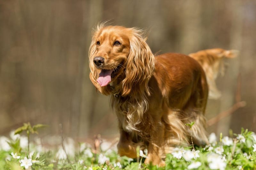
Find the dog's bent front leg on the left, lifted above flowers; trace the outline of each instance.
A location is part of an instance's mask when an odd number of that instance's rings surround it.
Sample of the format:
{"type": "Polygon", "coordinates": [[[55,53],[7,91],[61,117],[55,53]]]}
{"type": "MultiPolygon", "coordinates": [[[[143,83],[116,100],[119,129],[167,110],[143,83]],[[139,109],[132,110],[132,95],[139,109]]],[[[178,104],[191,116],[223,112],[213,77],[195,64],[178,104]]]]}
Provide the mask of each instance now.
{"type": "Polygon", "coordinates": [[[117,144],[118,154],[120,156],[127,156],[129,158],[136,158],[137,152],[136,148],[137,146],[140,146],[140,148],[143,147],[143,143],[134,143],[132,142],[132,138],[129,133],[125,132],[123,129],[120,129],[120,139],[117,144]]]}

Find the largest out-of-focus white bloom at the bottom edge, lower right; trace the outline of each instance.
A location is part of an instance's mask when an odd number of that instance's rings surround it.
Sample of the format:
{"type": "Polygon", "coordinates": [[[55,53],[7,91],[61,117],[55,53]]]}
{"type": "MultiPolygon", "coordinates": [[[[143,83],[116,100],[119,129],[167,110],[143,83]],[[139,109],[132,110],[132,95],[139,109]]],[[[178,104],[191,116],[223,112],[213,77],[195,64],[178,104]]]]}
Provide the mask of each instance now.
{"type": "Polygon", "coordinates": [[[210,169],[224,170],[226,168],[226,166],[227,166],[227,163],[224,162],[224,158],[221,157],[221,155],[216,154],[216,153],[210,153],[207,156],[207,161],[209,163],[210,169]]]}

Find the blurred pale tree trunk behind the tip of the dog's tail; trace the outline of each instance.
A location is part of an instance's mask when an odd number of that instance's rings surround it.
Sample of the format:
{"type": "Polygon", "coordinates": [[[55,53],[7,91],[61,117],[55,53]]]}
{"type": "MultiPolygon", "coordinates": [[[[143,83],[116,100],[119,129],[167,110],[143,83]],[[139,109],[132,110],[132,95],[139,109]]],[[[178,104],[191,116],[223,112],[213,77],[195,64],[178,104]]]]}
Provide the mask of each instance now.
{"type": "MultiPolygon", "coordinates": [[[[241,51],[242,50],[242,28],[243,28],[243,1],[237,0],[237,1],[229,1],[225,9],[228,13],[230,13],[230,20],[231,20],[231,27],[230,27],[230,45],[229,49],[236,49],[241,51]]],[[[236,89],[237,89],[237,78],[238,74],[241,70],[241,57],[238,56],[237,58],[234,58],[232,60],[229,60],[228,68],[225,73],[225,76],[223,79],[224,82],[230,82],[230,83],[224,83],[222,84],[222,88],[224,89],[222,91],[222,97],[221,97],[221,103],[220,103],[220,112],[226,111],[228,108],[232,107],[236,103],[235,97],[236,97],[236,89]],[[225,80],[224,80],[225,79],[225,80]]],[[[228,130],[230,128],[230,121],[231,121],[232,115],[228,116],[217,124],[217,134],[220,134],[221,132],[223,135],[228,135],[228,130]]]]}

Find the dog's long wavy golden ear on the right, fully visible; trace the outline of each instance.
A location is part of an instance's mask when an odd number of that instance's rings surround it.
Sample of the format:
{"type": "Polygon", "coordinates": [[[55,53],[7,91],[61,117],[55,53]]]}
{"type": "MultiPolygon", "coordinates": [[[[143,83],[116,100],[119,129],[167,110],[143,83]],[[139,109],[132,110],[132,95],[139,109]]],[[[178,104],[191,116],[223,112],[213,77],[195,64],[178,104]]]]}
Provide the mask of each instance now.
{"type": "Polygon", "coordinates": [[[141,36],[141,31],[131,28],[130,52],[126,62],[125,78],[121,82],[122,96],[148,93],[148,81],[155,66],[155,57],[141,36]]]}

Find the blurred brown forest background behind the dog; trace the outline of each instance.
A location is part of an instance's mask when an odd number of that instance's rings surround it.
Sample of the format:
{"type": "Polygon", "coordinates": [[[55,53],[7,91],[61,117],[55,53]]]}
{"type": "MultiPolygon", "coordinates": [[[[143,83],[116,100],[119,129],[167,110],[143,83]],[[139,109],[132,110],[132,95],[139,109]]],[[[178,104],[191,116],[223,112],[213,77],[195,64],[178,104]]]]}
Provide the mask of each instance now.
{"type": "Polygon", "coordinates": [[[208,101],[206,117],[239,100],[246,106],[208,131],[256,131],[255,0],[1,0],[0,135],[31,122],[48,124],[44,134],[52,135],[61,123],[65,136],[79,140],[118,136],[109,98],[96,92],[88,67],[92,28],[109,19],[148,29],[153,53],[239,50],[217,80],[222,97],[208,101]]]}

